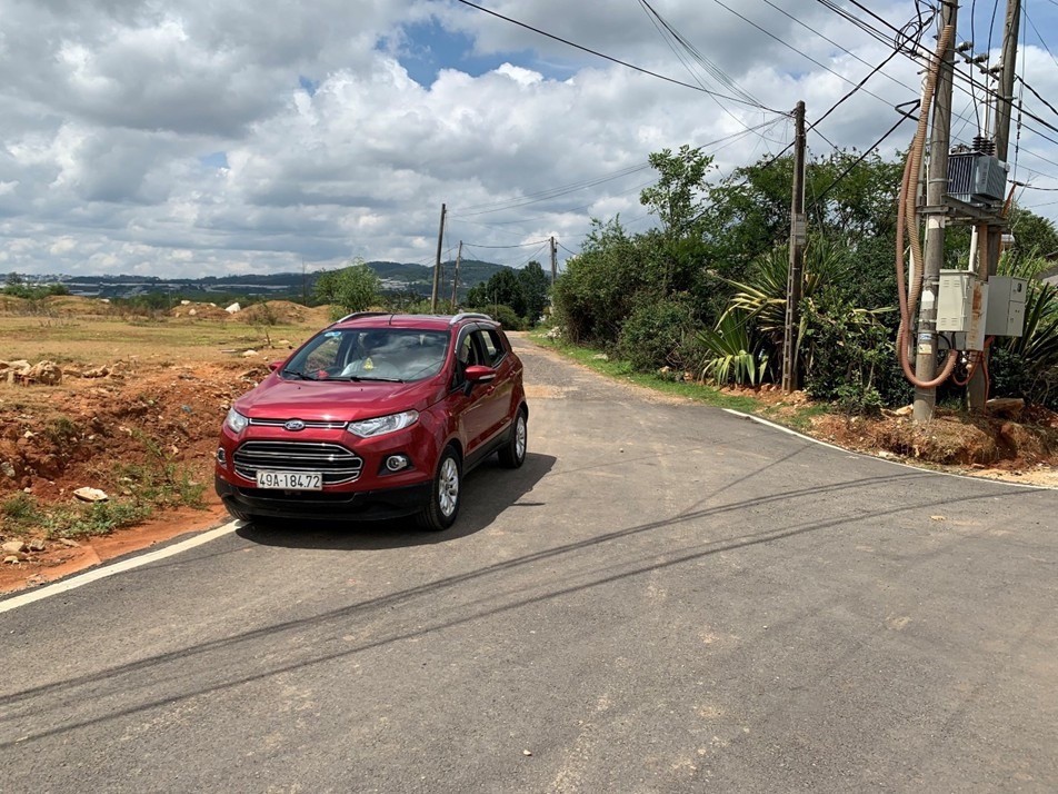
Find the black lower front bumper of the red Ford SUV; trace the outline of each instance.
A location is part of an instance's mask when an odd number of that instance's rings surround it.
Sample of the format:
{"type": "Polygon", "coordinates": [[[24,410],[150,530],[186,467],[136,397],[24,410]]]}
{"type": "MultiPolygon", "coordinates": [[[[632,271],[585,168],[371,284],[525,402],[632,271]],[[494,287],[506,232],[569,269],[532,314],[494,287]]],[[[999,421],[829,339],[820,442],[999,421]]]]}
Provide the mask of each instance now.
{"type": "Polygon", "coordinates": [[[430,499],[432,483],[362,492],[268,490],[232,485],[213,476],[217,495],[226,507],[264,518],[318,520],[380,520],[409,516],[430,499]]]}

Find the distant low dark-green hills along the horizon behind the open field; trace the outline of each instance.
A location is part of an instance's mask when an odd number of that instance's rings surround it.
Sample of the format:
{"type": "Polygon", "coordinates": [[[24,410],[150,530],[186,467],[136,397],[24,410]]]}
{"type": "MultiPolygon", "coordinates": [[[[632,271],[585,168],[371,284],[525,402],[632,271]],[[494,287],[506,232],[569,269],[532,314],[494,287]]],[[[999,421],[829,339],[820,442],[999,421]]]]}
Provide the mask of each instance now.
{"type": "MultiPolygon", "coordinates": [[[[385,292],[416,294],[429,297],[433,291],[433,267],[415,262],[370,261],[367,264],[382,281],[385,292]]],[[[442,296],[451,296],[456,262],[441,265],[442,296]]],[[[465,259],[459,264],[459,297],[467,290],[495,274],[510,269],[506,265],[465,259]]],[[[312,287],[320,270],[300,272],[275,272],[243,276],[207,276],[204,278],[158,278],[157,276],[23,276],[28,284],[63,284],[73,295],[100,298],[134,298],[152,294],[169,294],[192,299],[206,297],[257,297],[289,298],[301,300],[311,297],[312,287]]]]}

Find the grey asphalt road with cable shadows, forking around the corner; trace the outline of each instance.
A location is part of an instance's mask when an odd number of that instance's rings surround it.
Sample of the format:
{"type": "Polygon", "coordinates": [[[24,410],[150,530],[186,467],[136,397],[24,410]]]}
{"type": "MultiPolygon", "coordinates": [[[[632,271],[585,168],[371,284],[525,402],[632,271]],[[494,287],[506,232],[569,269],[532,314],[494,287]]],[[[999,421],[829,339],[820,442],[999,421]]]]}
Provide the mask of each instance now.
{"type": "Polygon", "coordinates": [[[1058,790],[1058,493],[518,346],[529,459],[453,530],[247,526],[0,614],[0,790],[1058,790]]]}

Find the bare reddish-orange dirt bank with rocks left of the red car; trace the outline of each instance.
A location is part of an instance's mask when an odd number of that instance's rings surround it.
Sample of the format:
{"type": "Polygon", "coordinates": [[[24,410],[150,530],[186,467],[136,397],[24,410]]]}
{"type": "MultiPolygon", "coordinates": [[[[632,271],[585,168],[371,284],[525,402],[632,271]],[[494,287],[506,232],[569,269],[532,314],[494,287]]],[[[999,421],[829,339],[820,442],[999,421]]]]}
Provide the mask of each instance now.
{"type": "Polygon", "coordinates": [[[58,386],[0,389],[0,504],[21,492],[44,508],[71,506],[77,504],[73,492],[81,487],[128,497],[143,487],[138,473],[171,467],[204,486],[203,509],[156,510],[137,527],[77,538],[79,546],[48,539],[42,529],[16,532],[13,522],[0,516],[0,540],[42,546],[13,555],[18,562],[0,564],[0,593],[224,520],[212,488],[217,435],[231,401],[252,388],[267,368],[229,360],[194,367],[119,361],[107,369],[100,377],[67,369],[58,386]]]}

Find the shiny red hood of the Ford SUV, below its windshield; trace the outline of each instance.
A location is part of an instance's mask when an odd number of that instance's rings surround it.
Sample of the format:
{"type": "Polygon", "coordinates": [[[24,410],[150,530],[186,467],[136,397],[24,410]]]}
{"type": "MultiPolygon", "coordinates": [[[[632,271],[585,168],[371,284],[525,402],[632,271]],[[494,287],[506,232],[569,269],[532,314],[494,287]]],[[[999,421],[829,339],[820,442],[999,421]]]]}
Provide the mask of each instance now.
{"type": "Polygon", "coordinates": [[[435,378],[390,384],[283,380],[273,374],[236,400],[234,408],[251,419],[356,421],[402,410],[422,411],[442,395],[435,378]]]}

